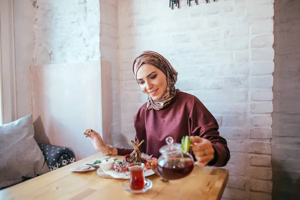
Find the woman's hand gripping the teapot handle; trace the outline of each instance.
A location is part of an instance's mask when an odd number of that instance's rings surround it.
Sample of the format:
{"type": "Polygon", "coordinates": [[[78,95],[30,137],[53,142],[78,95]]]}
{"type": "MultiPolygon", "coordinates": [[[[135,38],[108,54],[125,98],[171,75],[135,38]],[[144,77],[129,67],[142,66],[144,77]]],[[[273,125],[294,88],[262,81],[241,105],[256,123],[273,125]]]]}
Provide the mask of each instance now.
{"type": "Polygon", "coordinates": [[[214,148],[208,139],[199,136],[190,136],[192,141],[192,151],[197,159],[199,166],[206,166],[214,157],[214,148]]]}

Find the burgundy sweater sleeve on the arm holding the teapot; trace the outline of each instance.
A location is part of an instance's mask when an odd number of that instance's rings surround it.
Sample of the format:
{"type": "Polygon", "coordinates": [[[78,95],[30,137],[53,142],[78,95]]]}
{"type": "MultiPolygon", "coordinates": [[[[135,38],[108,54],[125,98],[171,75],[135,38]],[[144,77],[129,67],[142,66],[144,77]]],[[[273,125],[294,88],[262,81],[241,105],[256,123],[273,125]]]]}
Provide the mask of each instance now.
{"type": "Polygon", "coordinates": [[[189,114],[189,134],[208,139],[215,150],[214,158],[208,165],[224,166],[230,158],[227,141],[219,135],[218,124],[213,115],[199,101],[193,100],[189,114]]]}

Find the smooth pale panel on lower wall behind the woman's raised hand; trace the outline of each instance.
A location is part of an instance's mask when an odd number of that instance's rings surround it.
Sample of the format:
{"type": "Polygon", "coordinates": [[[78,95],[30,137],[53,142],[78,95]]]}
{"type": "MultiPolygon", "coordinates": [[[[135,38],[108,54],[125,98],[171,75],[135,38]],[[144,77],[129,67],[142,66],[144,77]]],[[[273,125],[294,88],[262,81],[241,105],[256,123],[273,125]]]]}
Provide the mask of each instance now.
{"type": "MultiPolygon", "coordinates": [[[[109,64],[105,64],[109,72],[109,64]]],[[[105,75],[105,73],[103,72],[105,75]]],[[[76,159],[97,151],[83,132],[92,128],[110,142],[110,87],[101,95],[100,61],[31,67],[34,138],[37,142],[69,146],[76,159]],[[105,104],[106,103],[106,104],[105,104]],[[108,105],[107,105],[108,103],[108,105]],[[102,106],[105,109],[102,110],[102,106]],[[105,118],[105,130],[102,120],[105,118]],[[108,125],[109,124],[109,125],[108,125]],[[103,134],[104,133],[104,134],[103,134]]]]}

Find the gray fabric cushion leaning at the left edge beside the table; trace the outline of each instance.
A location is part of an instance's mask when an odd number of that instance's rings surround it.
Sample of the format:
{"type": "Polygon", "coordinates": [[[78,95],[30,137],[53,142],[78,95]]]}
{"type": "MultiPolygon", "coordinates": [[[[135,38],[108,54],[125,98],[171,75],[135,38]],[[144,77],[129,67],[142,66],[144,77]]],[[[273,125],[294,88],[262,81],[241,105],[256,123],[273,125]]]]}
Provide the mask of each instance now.
{"type": "Polygon", "coordinates": [[[32,114],[0,125],[0,188],[49,171],[33,135],[32,114]]]}

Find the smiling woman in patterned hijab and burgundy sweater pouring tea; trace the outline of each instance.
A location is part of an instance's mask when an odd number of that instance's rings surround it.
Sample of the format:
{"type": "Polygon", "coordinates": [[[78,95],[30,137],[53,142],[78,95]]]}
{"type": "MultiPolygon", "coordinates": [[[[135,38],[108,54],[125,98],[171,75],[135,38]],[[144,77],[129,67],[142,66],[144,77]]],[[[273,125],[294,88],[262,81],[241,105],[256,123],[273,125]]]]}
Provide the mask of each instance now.
{"type": "MultiPolygon", "coordinates": [[[[135,140],[144,140],[141,152],[158,157],[167,136],[180,143],[182,136],[189,135],[190,153],[198,165],[226,165],[230,153],[215,118],[197,97],[175,89],[177,72],[168,60],[156,52],[144,51],[135,58],[132,70],[140,89],[148,95],[134,116],[135,140]]],[[[92,129],[84,134],[97,151],[105,154],[125,155],[133,150],[104,144],[92,129]]]]}

